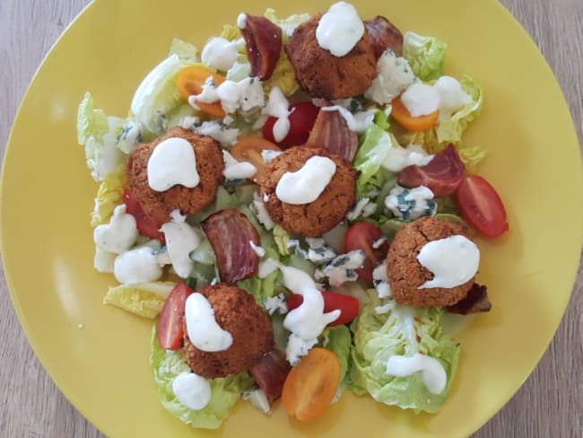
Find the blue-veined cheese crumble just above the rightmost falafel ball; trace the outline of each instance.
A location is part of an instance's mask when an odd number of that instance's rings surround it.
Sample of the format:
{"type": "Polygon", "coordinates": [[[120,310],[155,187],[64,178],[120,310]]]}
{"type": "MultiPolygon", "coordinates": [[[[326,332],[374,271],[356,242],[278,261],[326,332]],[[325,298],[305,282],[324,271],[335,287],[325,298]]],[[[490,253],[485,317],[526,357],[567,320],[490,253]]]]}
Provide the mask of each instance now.
{"type": "Polygon", "coordinates": [[[420,186],[404,188],[396,185],[385,198],[385,206],[403,221],[409,222],[421,216],[432,216],[437,211],[430,188],[420,186]]]}

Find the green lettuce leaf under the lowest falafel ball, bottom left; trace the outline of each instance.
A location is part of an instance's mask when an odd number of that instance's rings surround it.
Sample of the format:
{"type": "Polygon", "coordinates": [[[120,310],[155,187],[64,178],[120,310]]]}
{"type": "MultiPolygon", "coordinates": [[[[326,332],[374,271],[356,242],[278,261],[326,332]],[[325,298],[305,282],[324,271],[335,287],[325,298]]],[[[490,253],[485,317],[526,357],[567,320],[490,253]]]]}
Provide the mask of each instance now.
{"type": "Polygon", "coordinates": [[[182,372],[190,372],[183,350],[165,350],[158,346],[156,326],[152,329],[150,364],[158,397],[163,407],[187,425],[201,429],[216,429],[229,416],[231,408],[247,390],[252,380],[247,372],[229,374],[226,377],[211,379],[211,400],[199,410],[192,410],[178,401],[172,390],[172,381],[182,372]]]}

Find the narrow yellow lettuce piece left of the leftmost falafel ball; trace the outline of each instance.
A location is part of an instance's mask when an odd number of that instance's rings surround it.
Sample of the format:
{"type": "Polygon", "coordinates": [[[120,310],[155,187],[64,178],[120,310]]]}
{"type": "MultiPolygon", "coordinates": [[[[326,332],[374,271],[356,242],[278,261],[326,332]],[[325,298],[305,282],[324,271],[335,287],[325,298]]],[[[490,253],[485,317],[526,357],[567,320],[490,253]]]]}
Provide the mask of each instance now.
{"type": "Polygon", "coordinates": [[[119,164],[115,171],[109,172],[101,181],[91,213],[92,227],[109,222],[113,209],[123,201],[126,182],[126,164],[119,164]]]}

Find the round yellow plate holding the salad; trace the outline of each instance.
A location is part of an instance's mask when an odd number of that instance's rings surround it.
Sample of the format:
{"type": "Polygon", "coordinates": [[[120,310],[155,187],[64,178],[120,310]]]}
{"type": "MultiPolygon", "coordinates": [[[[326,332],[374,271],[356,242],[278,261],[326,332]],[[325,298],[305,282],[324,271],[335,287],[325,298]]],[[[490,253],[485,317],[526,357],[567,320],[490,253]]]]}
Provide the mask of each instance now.
{"type": "MultiPolygon", "coordinates": [[[[30,345],[66,397],[111,436],[464,436],[518,390],[557,328],[578,266],[583,213],[579,146],[553,74],[517,22],[493,0],[357,2],[403,31],[448,42],[447,71],[483,85],[482,115],[468,144],[500,189],[510,232],[481,241],[479,278],[493,310],[458,338],[457,378],[436,416],[344,397],[313,425],[277,408],[267,418],[239,403],[215,434],[182,425],[158,403],[148,364],[151,323],[101,304],[111,276],[92,269],[89,212],[96,185],[76,145],[83,92],[125,116],[136,86],[173,37],[202,47],[236,2],[98,0],[59,39],[22,101],[2,175],[2,250],[13,304],[30,345]],[[83,324],[83,329],[78,325],[83,324]]],[[[248,1],[248,13],[316,13],[326,2],[248,1]]]]}

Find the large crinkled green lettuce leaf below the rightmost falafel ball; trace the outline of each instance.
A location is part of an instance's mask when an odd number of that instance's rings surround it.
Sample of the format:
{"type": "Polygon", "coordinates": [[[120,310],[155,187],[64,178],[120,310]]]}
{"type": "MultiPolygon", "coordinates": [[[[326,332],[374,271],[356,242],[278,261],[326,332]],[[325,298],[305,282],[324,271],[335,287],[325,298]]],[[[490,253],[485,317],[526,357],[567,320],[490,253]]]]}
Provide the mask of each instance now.
{"type": "Polygon", "coordinates": [[[382,305],[374,290],[369,302],[352,323],[354,346],[350,386],[357,393],[370,393],[387,405],[435,413],[448,397],[456,373],[459,345],[444,335],[440,325],[443,310],[413,309],[395,305],[387,313],[378,314],[382,305]],[[386,373],[387,360],[393,355],[429,355],[439,361],[447,374],[445,390],[433,394],[422,381],[422,372],[407,377],[386,373]]]}

